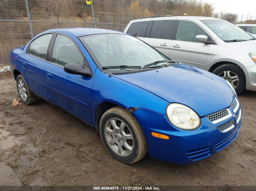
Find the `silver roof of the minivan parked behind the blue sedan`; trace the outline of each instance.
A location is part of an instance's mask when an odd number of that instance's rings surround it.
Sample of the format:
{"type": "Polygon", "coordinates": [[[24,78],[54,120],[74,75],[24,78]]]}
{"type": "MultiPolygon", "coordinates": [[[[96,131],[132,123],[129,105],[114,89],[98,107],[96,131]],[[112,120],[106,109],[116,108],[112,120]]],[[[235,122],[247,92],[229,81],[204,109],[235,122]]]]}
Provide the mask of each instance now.
{"type": "Polygon", "coordinates": [[[137,21],[149,21],[149,20],[168,20],[168,19],[186,19],[186,20],[191,20],[191,21],[197,21],[197,20],[223,20],[219,18],[214,18],[214,17],[202,17],[202,16],[163,16],[163,17],[156,17],[153,18],[141,18],[141,19],[136,19],[131,22],[137,22],[137,21]]]}

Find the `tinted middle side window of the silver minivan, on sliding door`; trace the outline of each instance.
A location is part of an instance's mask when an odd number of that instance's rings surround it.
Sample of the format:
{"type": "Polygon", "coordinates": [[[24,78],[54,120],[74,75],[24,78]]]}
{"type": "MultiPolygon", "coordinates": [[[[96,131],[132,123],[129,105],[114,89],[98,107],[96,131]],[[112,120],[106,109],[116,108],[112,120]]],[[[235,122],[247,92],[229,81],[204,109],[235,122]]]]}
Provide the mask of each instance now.
{"type": "Polygon", "coordinates": [[[176,20],[154,21],[150,33],[150,38],[171,39],[176,20]]]}

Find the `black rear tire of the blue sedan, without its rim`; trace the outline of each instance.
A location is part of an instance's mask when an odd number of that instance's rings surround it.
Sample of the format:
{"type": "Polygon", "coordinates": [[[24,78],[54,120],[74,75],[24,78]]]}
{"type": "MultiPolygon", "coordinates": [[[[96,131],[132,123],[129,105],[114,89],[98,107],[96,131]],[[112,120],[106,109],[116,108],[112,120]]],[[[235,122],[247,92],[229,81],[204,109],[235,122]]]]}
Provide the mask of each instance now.
{"type": "Polygon", "coordinates": [[[22,103],[26,104],[26,105],[29,105],[29,104],[32,104],[32,103],[35,103],[37,102],[38,100],[38,96],[35,95],[29,88],[28,88],[28,84],[26,83],[25,79],[23,78],[23,76],[20,74],[17,76],[17,79],[16,79],[16,85],[17,85],[17,90],[18,90],[18,94],[19,94],[19,97],[22,101],[22,103]],[[19,92],[19,81],[22,81],[24,83],[24,86],[26,88],[26,95],[27,95],[27,98],[24,99],[23,96],[21,95],[21,93],[19,92]]]}

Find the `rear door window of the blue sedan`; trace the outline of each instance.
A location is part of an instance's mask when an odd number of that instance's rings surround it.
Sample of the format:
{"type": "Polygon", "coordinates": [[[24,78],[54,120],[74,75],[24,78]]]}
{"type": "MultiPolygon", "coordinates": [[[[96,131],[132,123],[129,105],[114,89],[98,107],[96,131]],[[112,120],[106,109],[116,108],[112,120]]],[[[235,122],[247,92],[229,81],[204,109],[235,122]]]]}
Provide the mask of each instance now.
{"type": "Polygon", "coordinates": [[[35,40],[33,40],[30,43],[28,54],[31,54],[46,60],[47,49],[48,49],[48,45],[50,43],[51,38],[52,38],[52,33],[42,35],[36,38],[35,40]]]}

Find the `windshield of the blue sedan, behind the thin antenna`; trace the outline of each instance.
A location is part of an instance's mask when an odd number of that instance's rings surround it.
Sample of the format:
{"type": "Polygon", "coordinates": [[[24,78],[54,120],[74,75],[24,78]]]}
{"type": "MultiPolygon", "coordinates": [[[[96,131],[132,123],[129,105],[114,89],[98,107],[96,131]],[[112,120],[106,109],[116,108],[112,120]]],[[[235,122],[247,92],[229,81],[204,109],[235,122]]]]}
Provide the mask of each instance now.
{"type": "Polygon", "coordinates": [[[143,41],[125,34],[108,34],[108,41],[107,34],[88,35],[80,39],[101,68],[109,65],[144,67],[155,61],[170,60],[143,41]]]}

